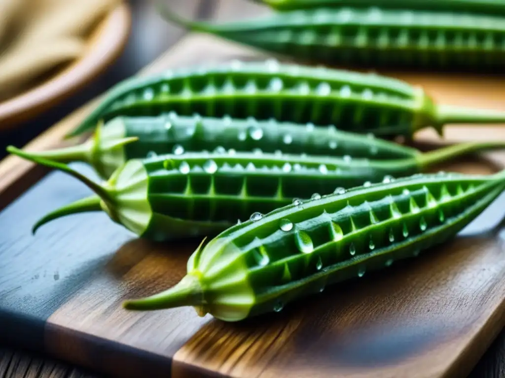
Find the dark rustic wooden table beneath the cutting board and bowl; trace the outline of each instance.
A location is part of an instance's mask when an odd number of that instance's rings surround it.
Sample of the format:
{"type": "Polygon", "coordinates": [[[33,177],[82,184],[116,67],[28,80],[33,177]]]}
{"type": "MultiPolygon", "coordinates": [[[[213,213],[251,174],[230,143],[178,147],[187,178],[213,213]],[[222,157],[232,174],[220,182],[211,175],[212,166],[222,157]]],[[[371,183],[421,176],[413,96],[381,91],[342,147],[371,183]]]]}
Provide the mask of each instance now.
{"type": "MultiPolygon", "coordinates": [[[[80,98],[73,100],[74,104],[82,104],[90,97],[94,97],[97,93],[104,91],[114,82],[133,74],[150,60],[154,60],[161,52],[169,49],[170,46],[184,35],[182,30],[160,22],[151,6],[146,5],[146,2],[132,1],[131,3],[133,5],[133,33],[125,53],[120,58],[118,64],[110,70],[115,73],[115,76],[111,77],[108,74],[104,75],[104,78],[101,78],[98,83],[95,83],[93,89],[88,90],[86,94],[80,98]],[[146,41],[149,41],[149,43],[146,43],[146,41]],[[144,59],[139,59],[139,56],[143,56],[144,59]],[[145,59],[148,59],[148,61],[145,61],[145,59]],[[123,71],[118,71],[118,68],[123,71]],[[118,72],[120,72],[120,74],[118,74],[118,72]]],[[[231,16],[250,16],[250,13],[246,15],[243,14],[243,3],[240,1],[230,2],[226,0],[216,0],[215,2],[200,2],[206,3],[206,6],[202,6],[202,4],[198,4],[196,1],[188,2],[186,0],[172,0],[172,3],[180,3],[180,10],[186,8],[186,15],[198,14],[200,17],[208,17],[209,14],[212,13],[214,19],[229,18],[231,16]]],[[[58,119],[66,115],[61,113],[61,108],[59,110],[59,113],[54,112],[50,117],[46,117],[46,122],[48,120],[54,122],[54,118],[58,119]]],[[[65,113],[71,110],[65,111],[65,113]]],[[[35,124],[37,121],[38,120],[34,120],[33,123],[35,124]]],[[[50,124],[47,124],[47,126],[48,125],[50,124]]],[[[39,132],[39,130],[36,130],[36,132],[39,132]]],[[[7,136],[7,138],[2,138],[0,144],[23,145],[34,136],[35,135],[27,135],[26,133],[13,133],[7,136]]],[[[2,150],[4,150],[4,148],[2,148],[2,150]]],[[[505,331],[502,331],[474,367],[469,377],[505,376],[504,361],[505,331]]],[[[35,354],[17,349],[14,350],[9,348],[9,346],[0,346],[0,378],[59,376],[98,377],[99,374],[93,371],[87,371],[81,367],[73,366],[64,361],[56,361],[47,358],[42,354],[35,354]]]]}

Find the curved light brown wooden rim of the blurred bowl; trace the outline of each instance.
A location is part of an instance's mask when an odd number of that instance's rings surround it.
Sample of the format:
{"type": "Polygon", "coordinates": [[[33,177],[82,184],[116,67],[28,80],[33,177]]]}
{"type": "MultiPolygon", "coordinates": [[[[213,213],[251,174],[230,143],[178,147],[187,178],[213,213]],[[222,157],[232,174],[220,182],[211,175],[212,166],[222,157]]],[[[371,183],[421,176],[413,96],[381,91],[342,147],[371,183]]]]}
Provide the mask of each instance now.
{"type": "Polygon", "coordinates": [[[56,106],[105,71],[124,49],[130,30],[130,6],[122,3],[92,32],[84,56],[27,92],[0,102],[0,132],[56,106]]]}

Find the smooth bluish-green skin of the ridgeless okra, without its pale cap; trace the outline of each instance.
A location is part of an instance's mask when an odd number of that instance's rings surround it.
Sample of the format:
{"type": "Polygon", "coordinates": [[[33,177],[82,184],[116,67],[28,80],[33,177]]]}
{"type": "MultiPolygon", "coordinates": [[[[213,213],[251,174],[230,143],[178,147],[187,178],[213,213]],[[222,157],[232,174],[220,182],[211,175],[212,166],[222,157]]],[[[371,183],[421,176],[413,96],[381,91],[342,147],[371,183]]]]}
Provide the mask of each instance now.
{"type": "Polygon", "coordinates": [[[174,112],[154,117],[121,117],[126,135],[138,141],[124,147],[127,160],[150,155],[182,154],[185,151],[228,150],[344,156],[369,159],[415,157],[414,148],[337,130],[315,126],[230,117],[179,116],[174,112]]]}

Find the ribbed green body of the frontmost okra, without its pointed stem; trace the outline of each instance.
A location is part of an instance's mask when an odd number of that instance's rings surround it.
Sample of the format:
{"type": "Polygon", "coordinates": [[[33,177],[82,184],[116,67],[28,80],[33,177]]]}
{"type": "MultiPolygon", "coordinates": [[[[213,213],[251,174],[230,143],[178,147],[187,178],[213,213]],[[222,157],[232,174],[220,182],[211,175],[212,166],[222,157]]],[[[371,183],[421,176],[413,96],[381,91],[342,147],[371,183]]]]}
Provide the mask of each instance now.
{"type": "Polygon", "coordinates": [[[204,289],[202,313],[237,321],[278,311],[330,284],[416,257],[454,237],[504,188],[503,172],[415,175],[289,205],[219,234],[191,257],[188,274],[199,277],[204,289]],[[286,222],[292,224],[289,230],[282,229],[286,222]],[[242,273],[245,281],[226,279],[242,273]],[[221,280],[228,286],[220,286],[221,280]],[[233,295],[215,302],[232,293],[233,285],[252,289],[250,310],[233,295]],[[224,308],[228,314],[236,311],[236,318],[226,318],[220,312],[224,308]]]}

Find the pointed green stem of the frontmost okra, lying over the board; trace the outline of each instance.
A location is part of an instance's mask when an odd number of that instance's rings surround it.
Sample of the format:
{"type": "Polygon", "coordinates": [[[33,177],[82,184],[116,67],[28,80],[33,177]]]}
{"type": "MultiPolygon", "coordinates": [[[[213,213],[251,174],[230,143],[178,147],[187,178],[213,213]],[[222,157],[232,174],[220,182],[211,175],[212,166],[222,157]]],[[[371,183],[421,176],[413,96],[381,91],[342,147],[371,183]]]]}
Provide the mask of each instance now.
{"type": "Polygon", "coordinates": [[[123,307],[128,310],[152,311],[204,304],[203,288],[195,275],[187,274],[178,284],[161,293],[140,299],[128,299],[123,307]]]}

